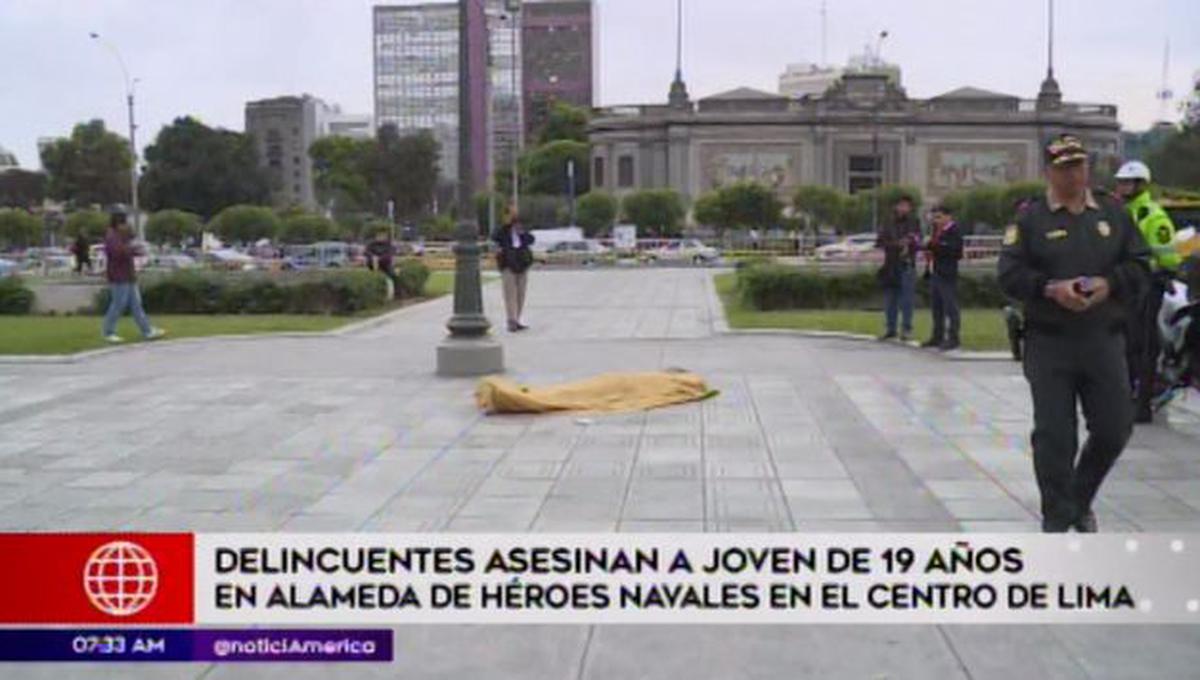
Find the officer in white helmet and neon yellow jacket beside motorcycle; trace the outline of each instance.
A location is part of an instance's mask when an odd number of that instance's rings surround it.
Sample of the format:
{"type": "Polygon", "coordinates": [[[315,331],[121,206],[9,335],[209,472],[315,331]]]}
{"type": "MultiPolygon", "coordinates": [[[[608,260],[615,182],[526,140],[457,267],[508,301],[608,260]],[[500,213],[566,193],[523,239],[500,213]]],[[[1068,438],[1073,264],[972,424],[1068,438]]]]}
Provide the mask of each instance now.
{"type": "Polygon", "coordinates": [[[1151,398],[1158,368],[1158,311],[1163,294],[1178,272],[1182,257],[1175,249],[1175,224],[1163,206],[1150,197],[1150,168],[1129,161],[1115,175],[1116,194],[1124,201],[1142,239],[1150,246],[1152,283],[1146,296],[1130,311],[1128,329],[1129,378],[1136,403],[1135,421],[1152,422],[1151,398]]]}

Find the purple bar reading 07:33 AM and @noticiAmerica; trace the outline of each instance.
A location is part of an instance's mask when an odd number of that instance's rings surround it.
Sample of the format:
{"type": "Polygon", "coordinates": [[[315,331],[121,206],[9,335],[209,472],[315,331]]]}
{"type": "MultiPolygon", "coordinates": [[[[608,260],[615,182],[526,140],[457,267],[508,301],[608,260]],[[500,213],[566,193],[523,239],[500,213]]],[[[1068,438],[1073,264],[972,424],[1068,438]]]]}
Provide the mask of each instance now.
{"type": "Polygon", "coordinates": [[[0,662],[390,662],[390,630],[0,630],[0,662]]]}

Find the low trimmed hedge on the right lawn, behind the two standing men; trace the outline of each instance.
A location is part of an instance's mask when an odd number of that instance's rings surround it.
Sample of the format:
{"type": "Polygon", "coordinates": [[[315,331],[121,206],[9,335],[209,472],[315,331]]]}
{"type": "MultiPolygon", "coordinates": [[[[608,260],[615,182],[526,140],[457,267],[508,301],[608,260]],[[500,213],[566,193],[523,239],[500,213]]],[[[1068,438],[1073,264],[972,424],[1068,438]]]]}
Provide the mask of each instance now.
{"type": "MultiPolygon", "coordinates": [[[[878,309],[883,291],[874,270],[822,272],[814,267],[776,264],[739,269],[737,291],[755,309],[878,309]]],[[[929,305],[929,282],[918,277],[917,301],[929,305]]],[[[959,275],[959,305],[995,307],[1007,303],[995,275],[959,275]]]]}

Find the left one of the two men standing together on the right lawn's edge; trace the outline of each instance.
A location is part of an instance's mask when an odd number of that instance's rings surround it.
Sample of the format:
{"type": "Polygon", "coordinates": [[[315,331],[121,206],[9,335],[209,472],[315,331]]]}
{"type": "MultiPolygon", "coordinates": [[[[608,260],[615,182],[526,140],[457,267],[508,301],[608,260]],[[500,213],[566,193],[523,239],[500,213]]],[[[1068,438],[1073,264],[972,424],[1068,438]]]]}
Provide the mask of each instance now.
{"type": "Polygon", "coordinates": [[[920,248],[920,223],[912,213],[911,195],[901,194],[892,206],[892,219],[880,228],[875,247],[883,248],[880,285],[886,300],[887,331],[880,339],[896,337],[896,317],[902,314],[900,339],[912,337],[912,307],[917,294],[917,251],[920,248]]]}

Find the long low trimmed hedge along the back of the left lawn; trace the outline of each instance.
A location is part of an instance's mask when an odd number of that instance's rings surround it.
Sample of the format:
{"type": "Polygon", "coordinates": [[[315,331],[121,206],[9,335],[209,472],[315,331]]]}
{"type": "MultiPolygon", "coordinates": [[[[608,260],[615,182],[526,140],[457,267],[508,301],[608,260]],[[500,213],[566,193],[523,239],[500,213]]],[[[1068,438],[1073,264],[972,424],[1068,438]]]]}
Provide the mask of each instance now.
{"type": "MultiPolygon", "coordinates": [[[[418,265],[420,266],[420,265],[418,265]]],[[[401,297],[419,295],[428,278],[403,265],[401,297]],[[420,279],[420,288],[414,285],[420,279]]],[[[424,266],[421,266],[424,269],[424,266]]],[[[140,282],[146,312],[160,314],[353,314],[388,301],[388,281],[366,270],[218,273],[179,271],[140,282]]],[[[108,307],[109,293],[96,295],[96,309],[108,307]]]]}

